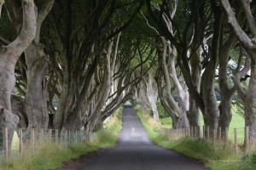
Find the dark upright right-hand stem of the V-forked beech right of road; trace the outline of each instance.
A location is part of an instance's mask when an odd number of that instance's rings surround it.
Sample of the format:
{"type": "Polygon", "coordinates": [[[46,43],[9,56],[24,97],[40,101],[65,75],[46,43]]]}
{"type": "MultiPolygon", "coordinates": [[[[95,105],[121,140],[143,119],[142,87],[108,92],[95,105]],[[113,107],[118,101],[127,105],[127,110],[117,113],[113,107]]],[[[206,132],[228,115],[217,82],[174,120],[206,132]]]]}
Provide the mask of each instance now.
{"type": "Polygon", "coordinates": [[[213,138],[213,133],[218,128],[219,110],[214,89],[215,71],[219,59],[219,43],[221,32],[221,10],[218,5],[212,1],[212,11],[214,14],[212,49],[210,60],[207,62],[206,69],[202,76],[202,95],[205,104],[204,122],[207,127],[210,127],[210,136],[213,138]]]}

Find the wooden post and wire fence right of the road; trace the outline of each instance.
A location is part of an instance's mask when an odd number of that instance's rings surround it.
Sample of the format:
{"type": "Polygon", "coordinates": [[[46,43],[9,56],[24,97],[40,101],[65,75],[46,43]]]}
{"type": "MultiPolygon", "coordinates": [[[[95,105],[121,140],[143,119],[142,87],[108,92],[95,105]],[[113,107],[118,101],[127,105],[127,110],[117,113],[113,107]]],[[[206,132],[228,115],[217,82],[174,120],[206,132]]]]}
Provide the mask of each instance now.
{"type": "Polygon", "coordinates": [[[244,128],[233,128],[233,129],[211,129],[210,127],[198,126],[198,127],[187,127],[187,128],[162,128],[162,132],[165,135],[172,135],[174,138],[180,138],[183,136],[195,139],[206,139],[213,140],[213,142],[224,141],[232,142],[236,148],[247,150],[249,146],[249,127],[244,128]]]}

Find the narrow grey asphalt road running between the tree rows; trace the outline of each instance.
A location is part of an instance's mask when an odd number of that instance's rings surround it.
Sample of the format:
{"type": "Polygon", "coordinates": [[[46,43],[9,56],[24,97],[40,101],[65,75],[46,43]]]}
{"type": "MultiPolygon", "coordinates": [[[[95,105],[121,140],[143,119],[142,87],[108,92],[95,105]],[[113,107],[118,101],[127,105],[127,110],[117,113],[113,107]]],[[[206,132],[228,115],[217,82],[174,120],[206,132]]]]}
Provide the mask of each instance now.
{"type": "Polygon", "coordinates": [[[125,106],[119,144],[88,162],[84,170],[198,170],[201,163],[155,145],[140,122],[137,111],[125,106]]]}

